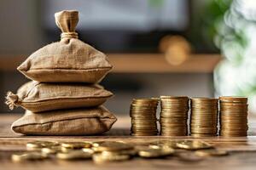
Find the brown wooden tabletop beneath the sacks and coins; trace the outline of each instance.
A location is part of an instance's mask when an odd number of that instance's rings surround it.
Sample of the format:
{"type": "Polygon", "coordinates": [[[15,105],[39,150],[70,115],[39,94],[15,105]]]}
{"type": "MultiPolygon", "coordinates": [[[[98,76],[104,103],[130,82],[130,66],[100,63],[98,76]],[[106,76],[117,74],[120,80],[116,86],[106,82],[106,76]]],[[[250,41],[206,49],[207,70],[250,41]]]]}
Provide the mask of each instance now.
{"type": "MultiPolygon", "coordinates": [[[[214,145],[218,149],[229,150],[229,156],[208,157],[201,161],[184,161],[176,156],[166,159],[135,158],[131,161],[109,162],[101,165],[93,161],[26,161],[12,162],[10,156],[18,151],[26,150],[25,144],[35,139],[58,140],[58,141],[83,141],[83,140],[123,140],[129,143],[146,143],[164,139],[192,139],[191,137],[168,138],[154,137],[131,137],[129,135],[129,118],[119,117],[119,121],[113,129],[102,136],[22,136],[11,132],[10,125],[20,115],[0,114],[0,169],[255,169],[256,168],[256,123],[250,122],[249,136],[247,138],[201,138],[214,145]]],[[[195,138],[194,138],[195,139],[195,138]]]]}

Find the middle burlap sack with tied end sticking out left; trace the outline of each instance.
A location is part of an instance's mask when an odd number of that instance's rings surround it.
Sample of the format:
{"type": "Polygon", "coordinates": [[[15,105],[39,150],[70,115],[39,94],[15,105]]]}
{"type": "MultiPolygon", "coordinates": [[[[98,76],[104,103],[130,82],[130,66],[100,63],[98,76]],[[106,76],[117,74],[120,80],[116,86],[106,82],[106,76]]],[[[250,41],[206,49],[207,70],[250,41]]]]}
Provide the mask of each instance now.
{"type": "Polygon", "coordinates": [[[21,106],[33,112],[53,111],[102,105],[112,95],[99,85],[32,81],[21,86],[17,94],[9,92],[6,104],[11,110],[21,106]]]}

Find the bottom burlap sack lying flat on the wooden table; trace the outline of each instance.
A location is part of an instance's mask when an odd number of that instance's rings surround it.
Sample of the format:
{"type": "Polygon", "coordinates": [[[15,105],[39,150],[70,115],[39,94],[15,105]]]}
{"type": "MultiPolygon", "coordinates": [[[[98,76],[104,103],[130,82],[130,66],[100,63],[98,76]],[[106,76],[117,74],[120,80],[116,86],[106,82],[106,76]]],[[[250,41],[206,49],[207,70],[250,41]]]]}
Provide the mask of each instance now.
{"type": "Polygon", "coordinates": [[[12,124],[15,133],[29,135],[92,135],[107,132],[116,122],[105,107],[26,114],[12,124]]]}

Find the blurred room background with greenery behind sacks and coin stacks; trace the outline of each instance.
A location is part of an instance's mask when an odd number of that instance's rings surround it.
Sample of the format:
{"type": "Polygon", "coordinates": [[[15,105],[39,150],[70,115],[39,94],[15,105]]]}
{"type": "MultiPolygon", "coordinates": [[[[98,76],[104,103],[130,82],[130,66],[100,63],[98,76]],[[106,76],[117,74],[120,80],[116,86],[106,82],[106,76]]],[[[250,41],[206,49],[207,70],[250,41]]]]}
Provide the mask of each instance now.
{"type": "Polygon", "coordinates": [[[79,39],[108,54],[107,107],[160,95],[248,96],[256,112],[255,0],[1,0],[0,112],[7,91],[28,80],[16,67],[60,40],[54,14],[79,10],[79,39]]]}

